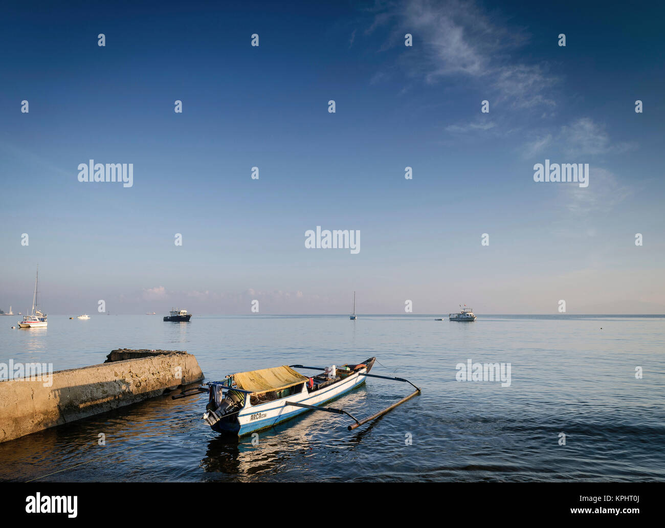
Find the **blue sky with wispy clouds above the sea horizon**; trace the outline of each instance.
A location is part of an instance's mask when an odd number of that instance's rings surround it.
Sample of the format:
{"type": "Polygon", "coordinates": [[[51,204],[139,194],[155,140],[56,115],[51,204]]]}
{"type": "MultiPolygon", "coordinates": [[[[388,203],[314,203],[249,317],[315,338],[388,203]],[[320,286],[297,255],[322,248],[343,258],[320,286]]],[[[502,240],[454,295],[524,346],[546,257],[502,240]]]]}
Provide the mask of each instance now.
{"type": "Polygon", "coordinates": [[[5,310],[39,263],[49,313],[665,312],[662,7],[3,6],[5,310]],[[360,253],[305,249],[317,225],[360,253]]]}

